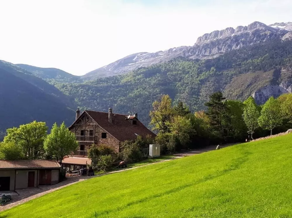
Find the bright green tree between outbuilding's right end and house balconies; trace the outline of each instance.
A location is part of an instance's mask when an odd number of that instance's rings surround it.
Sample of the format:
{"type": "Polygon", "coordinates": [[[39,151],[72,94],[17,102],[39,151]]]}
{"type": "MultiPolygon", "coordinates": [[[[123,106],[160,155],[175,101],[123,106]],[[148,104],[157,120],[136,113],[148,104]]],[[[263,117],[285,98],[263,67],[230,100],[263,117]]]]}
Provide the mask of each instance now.
{"type": "Polygon", "coordinates": [[[44,141],[44,148],[47,154],[62,163],[66,155],[71,154],[78,147],[75,134],[71,132],[63,122],[60,127],[54,123],[51,133],[44,141]]]}

